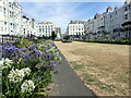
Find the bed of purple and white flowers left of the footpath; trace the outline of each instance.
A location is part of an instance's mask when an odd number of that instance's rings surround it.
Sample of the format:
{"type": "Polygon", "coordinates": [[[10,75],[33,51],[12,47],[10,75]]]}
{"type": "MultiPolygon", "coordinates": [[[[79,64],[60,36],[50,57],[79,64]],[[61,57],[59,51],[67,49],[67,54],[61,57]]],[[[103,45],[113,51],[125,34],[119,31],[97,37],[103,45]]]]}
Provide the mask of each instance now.
{"type": "Polygon", "coordinates": [[[53,42],[19,40],[15,46],[2,46],[2,97],[46,96],[52,82],[53,68],[61,58],[53,42]]]}

